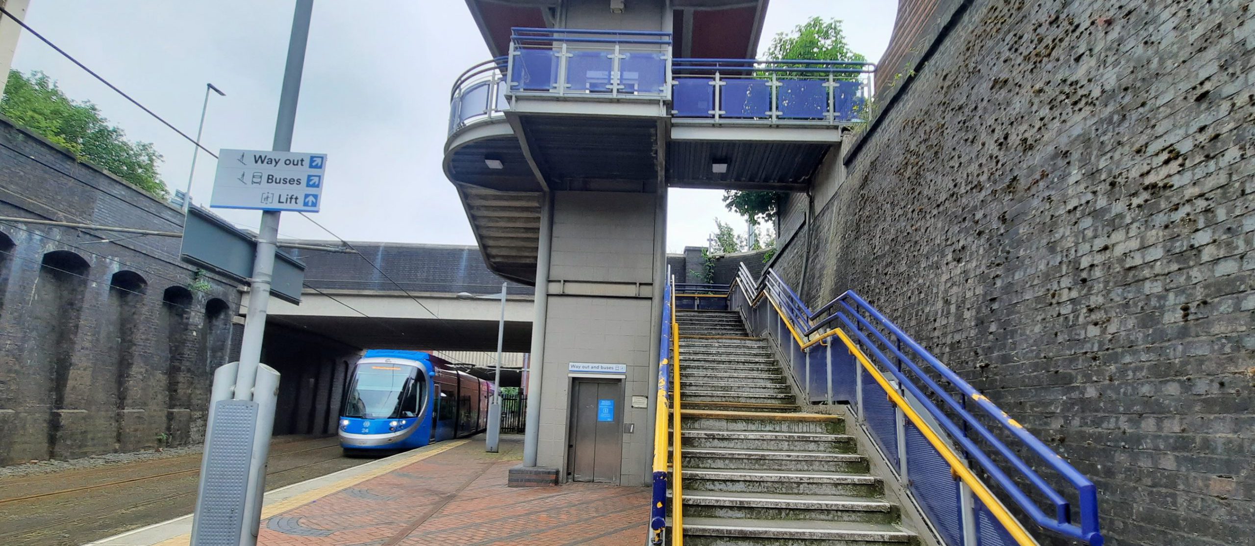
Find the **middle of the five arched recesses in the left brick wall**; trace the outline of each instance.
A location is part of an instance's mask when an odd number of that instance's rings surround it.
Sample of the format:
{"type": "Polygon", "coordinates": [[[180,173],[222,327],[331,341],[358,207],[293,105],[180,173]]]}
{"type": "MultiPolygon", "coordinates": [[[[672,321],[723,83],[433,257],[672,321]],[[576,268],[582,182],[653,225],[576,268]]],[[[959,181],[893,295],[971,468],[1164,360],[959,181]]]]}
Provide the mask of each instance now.
{"type": "Polygon", "coordinates": [[[105,339],[113,341],[114,351],[115,449],[122,448],[125,431],[129,429],[125,409],[131,402],[131,385],[142,379],[136,377],[136,345],[139,341],[147,292],[148,281],[134,271],[118,271],[109,279],[109,306],[117,320],[104,328],[113,329],[114,334],[112,340],[105,339]]]}

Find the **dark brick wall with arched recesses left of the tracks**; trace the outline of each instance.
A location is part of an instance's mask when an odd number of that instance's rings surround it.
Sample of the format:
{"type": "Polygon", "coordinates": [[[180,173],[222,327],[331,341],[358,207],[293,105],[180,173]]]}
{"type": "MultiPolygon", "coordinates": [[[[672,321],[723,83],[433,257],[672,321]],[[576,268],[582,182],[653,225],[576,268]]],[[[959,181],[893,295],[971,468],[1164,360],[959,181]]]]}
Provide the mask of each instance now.
{"type": "MultiPolygon", "coordinates": [[[[178,232],[169,205],[0,120],[0,216],[178,232]]],[[[205,436],[235,284],[179,238],[0,221],[0,464],[205,436]]]]}

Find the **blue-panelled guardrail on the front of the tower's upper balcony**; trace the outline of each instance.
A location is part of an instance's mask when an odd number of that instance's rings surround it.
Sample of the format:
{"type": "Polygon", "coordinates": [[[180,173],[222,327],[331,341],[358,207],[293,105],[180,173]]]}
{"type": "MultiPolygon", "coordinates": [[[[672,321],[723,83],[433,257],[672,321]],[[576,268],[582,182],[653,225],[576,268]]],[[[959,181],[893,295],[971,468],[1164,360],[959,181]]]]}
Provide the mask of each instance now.
{"type": "Polygon", "coordinates": [[[671,33],[515,28],[511,94],[669,99],[671,33]]]}

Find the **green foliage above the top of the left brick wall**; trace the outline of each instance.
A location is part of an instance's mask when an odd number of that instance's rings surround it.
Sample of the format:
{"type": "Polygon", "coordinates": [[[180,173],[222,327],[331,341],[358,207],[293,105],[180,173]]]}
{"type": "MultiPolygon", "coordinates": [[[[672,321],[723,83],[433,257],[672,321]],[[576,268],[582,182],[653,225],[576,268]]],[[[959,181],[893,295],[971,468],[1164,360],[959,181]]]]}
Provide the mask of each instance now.
{"type": "Polygon", "coordinates": [[[168,195],[157,174],[162,157],[152,143],[127,141],[122,129],[100,117],[95,104],[65,97],[56,82],[41,72],[23,75],[10,70],[0,113],[70,151],[79,161],[92,162],[159,198],[168,195]]]}

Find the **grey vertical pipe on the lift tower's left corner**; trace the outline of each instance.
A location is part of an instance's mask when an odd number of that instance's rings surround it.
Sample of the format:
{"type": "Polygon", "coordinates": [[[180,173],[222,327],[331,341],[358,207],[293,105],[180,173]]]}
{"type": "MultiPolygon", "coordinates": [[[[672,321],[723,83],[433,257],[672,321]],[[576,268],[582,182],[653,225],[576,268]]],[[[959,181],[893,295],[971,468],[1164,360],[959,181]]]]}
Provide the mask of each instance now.
{"type": "Polygon", "coordinates": [[[541,374],[545,372],[545,319],[548,314],[548,262],[553,244],[553,192],[541,203],[541,236],[536,252],[536,296],[532,319],[532,359],[527,378],[527,420],[523,424],[523,466],[536,466],[541,429],[541,374]]]}

